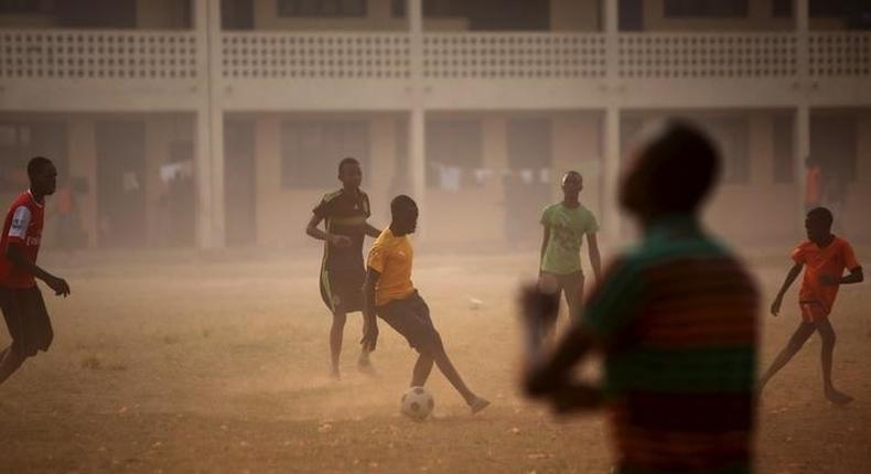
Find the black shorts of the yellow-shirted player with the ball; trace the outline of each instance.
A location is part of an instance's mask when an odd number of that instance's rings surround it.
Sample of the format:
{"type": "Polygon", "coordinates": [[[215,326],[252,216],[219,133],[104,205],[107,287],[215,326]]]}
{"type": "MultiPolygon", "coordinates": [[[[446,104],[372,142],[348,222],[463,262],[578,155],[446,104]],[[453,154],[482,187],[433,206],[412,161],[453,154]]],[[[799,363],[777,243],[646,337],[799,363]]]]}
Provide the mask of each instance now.
{"type": "Polygon", "coordinates": [[[431,355],[441,349],[441,336],[432,325],[430,309],[417,291],[408,298],[378,306],[376,311],[378,317],[401,334],[408,345],[420,354],[431,355]]]}

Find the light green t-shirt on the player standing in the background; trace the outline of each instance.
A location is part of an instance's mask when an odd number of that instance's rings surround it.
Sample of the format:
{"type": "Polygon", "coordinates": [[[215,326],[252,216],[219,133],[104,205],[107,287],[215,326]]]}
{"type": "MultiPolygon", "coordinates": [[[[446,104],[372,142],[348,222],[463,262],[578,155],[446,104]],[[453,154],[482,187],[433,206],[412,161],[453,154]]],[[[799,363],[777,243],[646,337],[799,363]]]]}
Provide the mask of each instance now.
{"type": "Polygon", "coordinates": [[[581,271],[583,236],[599,231],[593,213],[581,204],[578,207],[551,204],[541,213],[541,225],[550,228],[541,271],[557,274],[581,271]]]}

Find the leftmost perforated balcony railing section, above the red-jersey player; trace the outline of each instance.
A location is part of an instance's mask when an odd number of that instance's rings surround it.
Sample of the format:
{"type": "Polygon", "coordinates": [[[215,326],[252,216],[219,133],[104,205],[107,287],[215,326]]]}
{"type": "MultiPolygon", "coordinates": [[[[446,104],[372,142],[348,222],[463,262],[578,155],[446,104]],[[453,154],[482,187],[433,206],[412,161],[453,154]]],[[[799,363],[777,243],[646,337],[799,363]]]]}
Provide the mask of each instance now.
{"type": "Polygon", "coordinates": [[[0,78],[179,79],[197,75],[194,33],[0,31],[0,78]]]}

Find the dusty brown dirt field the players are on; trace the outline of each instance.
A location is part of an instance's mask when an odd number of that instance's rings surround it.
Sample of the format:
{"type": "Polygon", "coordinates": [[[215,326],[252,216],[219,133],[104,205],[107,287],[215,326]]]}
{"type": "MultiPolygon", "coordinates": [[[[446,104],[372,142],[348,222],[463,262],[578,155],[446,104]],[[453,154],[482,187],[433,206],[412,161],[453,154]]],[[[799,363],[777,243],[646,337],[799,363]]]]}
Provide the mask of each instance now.
{"type": "MultiPolygon", "coordinates": [[[[54,346],[0,387],[0,472],[609,472],[600,416],[557,422],[515,388],[513,291],[535,261],[419,252],[448,351],[494,403],[471,417],[434,371],[436,417],[415,423],[398,414],[415,355],[386,325],[377,377],[354,368],[358,316],[344,378],[326,377],[314,255],[46,255],[73,295],[46,294],[54,346]]],[[[788,263],[753,262],[767,301],[788,263]]],[[[797,325],[795,289],[787,300],[763,320],[763,364],[797,325]]],[[[834,322],[836,381],[857,401],[825,401],[813,338],[763,398],[760,472],[871,472],[868,283],[841,290],[834,322]]]]}

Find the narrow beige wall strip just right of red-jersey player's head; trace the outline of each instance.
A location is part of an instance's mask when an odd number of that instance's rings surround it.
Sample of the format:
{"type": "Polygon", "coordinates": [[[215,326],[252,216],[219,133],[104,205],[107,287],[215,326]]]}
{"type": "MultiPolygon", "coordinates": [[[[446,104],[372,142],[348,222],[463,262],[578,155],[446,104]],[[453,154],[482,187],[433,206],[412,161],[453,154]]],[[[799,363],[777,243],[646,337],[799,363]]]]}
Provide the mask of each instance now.
{"type": "Polygon", "coordinates": [[[69,176],[84,179],[88,191],[77,196],[82,229],[88,247],[97,247],[97,137],[94,121],[82,116],[69,120],[69,176]]]}

